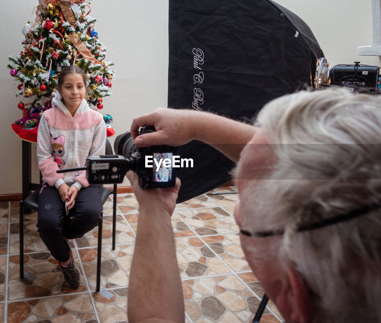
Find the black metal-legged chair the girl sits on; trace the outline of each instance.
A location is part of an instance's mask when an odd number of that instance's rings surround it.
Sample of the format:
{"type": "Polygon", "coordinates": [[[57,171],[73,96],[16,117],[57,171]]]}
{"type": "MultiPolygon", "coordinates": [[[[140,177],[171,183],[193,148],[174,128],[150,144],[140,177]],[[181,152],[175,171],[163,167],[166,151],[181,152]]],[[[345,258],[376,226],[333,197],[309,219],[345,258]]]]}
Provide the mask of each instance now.
{"type": "MultiPolygon", "coordinates": [[[[106,154],[112,154],[110,142],[106,140],[106,154]]],[[[115,250],[115,231],[116,231],[116,194],[117,185],[114,184],[113,191],[101,186],[102,205],[106,202],[111,193],[114,194],[114,204],[112,212],[112,250],[115,250]]],[[[24,207],[31,210],[38,210],[38,190],[30,194],[25,200],[20,201],[20,219],[19,219],[19,235],[20,235],[20,278],[24,278],[24,207]]],[[[98,252],[96,267],[96,291],[99,292],[101,285],[101,255],[102,255],[102,223],[103,211],[101,212],[101,221],[98,223],[98,252]]]]}

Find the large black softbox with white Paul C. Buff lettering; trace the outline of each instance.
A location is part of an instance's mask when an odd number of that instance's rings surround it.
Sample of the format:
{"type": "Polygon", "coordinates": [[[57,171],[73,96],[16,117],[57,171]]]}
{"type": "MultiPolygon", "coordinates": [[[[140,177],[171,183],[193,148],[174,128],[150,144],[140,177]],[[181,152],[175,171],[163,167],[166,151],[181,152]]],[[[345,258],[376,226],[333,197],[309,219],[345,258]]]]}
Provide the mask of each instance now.
{"type": "MultiPolygon", "coordinates": [[[[263,105],[307,84],[323,57],[311,29],[271,0],[170,0],[168,107],[250,121],[263,105]]],[[[221,129],[221,133],[224,129],[221,129]]],[[[211,146],[178,147],[179,202],[230,180],[234,164],[211,146]]]]}

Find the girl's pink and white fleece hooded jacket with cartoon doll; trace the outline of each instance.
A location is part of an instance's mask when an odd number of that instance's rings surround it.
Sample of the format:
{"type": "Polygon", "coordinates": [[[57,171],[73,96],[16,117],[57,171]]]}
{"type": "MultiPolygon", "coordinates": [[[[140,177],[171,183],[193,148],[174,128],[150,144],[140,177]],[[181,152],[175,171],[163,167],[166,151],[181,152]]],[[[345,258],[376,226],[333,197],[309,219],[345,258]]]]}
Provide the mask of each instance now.
{"type": "Polygon", "coordinates": [[[88,156],[104,154],[106,125],[102,115],[90,109],[83,99],[72,117],[56,97],[52,108],[40,120],[37,133],[37,158],[43,180],[58,188],[62,183],[78,190],[89,186],[86,171],[56,173],[58,169],[82,167],[88,156]]]}

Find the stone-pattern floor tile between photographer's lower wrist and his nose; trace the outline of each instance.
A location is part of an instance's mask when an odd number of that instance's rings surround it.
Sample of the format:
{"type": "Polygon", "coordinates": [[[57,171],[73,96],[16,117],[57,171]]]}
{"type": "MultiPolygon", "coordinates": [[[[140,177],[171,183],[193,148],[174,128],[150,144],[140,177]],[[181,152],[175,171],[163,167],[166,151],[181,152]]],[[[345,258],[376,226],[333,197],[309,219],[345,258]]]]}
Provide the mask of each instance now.
{"type": "Polygon", "coordinates": [[[175,213],[197,235],[228,234],[239,232],[234,217],[221,207],[176,210],[175,213]]]}

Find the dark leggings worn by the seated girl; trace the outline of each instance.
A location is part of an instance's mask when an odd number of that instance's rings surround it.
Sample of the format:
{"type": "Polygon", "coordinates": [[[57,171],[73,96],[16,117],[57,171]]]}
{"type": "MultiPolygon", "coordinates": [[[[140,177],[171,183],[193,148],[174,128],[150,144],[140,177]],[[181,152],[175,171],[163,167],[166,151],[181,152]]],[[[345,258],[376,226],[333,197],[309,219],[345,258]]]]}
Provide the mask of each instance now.
{"type": "Polygon", "coordinates": [[[67,261],[70,248],[64,237],[82,237],[101,220],[101,188],[99,185],[90,185],[80,189],[68,216],[58,189],[43,183],[39,190],[38,232],[51,255],[58,261],[67,261]]]}

